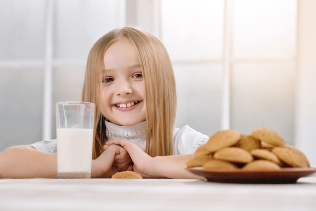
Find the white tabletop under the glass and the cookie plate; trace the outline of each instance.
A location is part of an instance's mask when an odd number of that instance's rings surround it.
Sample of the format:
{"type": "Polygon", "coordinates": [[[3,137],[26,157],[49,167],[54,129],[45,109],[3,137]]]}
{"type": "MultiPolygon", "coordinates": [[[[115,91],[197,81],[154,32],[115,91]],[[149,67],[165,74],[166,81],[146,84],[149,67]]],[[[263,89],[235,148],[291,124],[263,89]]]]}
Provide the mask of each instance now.
{"type": "Polygon", "coordinates": [[[0,179],[0,210],[316,210],[316,177],[293,184],[0,179]]]}

